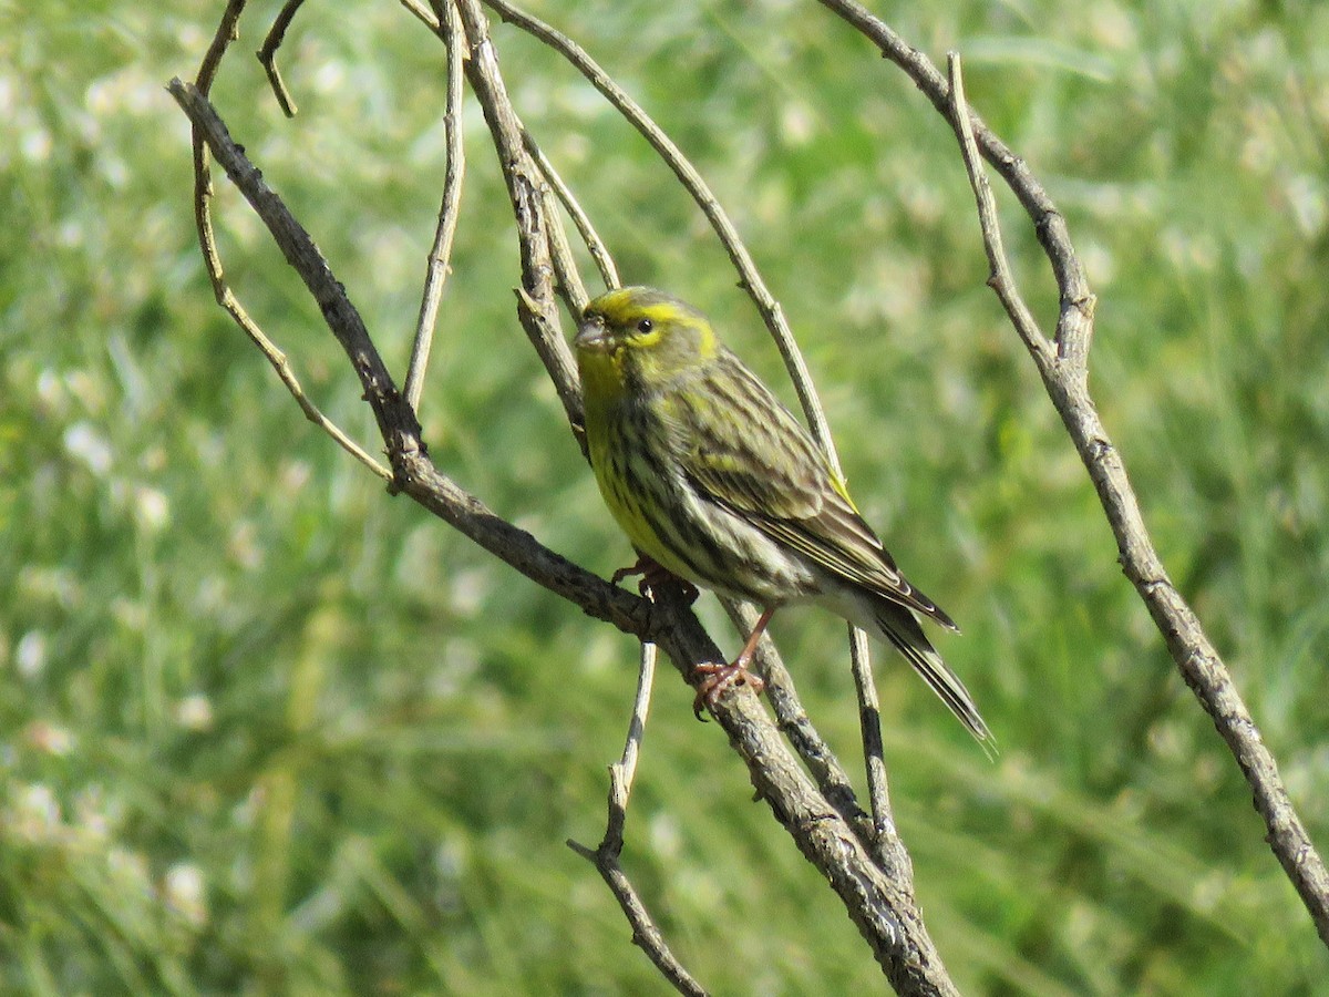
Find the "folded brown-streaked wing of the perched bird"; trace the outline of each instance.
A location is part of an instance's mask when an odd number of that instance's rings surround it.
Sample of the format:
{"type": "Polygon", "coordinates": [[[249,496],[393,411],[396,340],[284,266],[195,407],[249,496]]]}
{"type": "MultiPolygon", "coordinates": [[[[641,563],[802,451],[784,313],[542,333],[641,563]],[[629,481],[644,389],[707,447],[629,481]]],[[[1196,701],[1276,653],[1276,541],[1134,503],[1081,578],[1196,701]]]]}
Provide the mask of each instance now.
{"type": "Polygon", "coordinates": [[[720,363],[675,409],[692,487],[831,574],[957,629],[900,573],[803,424],[732,354],[720,363]],[[763,420],[735,417],[754,411],[763,420]]]}

